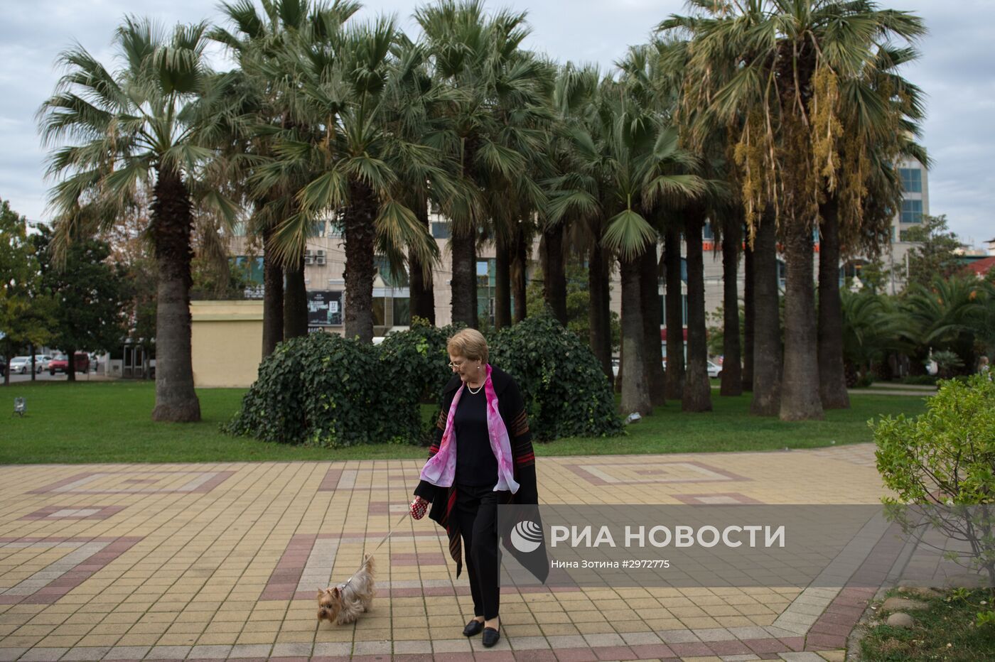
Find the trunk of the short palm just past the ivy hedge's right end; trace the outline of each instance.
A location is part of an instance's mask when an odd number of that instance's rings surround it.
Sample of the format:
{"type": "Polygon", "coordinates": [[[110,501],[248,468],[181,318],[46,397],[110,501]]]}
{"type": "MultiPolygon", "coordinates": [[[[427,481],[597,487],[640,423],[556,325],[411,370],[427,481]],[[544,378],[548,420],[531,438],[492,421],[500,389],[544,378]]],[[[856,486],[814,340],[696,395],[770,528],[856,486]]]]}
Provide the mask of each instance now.
{"type": "Polygon", "coordinates": [[[647,384],[643,345],[642,298],[640,295],[640,257],[620,260],[622,267],[622,405],[621,413],[627,416],[634,412],[648,415],[653,412],[650,402],[650,389],[647,384]]]}

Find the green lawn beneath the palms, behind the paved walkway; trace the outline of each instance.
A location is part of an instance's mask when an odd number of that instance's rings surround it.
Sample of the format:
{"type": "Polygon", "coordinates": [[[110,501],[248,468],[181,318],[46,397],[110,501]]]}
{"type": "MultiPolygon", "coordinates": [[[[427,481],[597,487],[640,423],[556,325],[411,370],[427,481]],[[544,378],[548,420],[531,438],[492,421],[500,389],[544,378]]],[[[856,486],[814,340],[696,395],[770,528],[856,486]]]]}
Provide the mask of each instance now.
{"type": "MultiPolygon", "coordinates": [[[[423,458],[407,445],[316,448],[232,437],[219,430],[239,408],[242,389],[198,391],[203,420],[153,422],[154,385],[142,382],[37,382],[0,389],[13,412],[27,398],[28,414],[0,414],[0,464],[78,462],[219,462],[423,458]]],[[[714,411],[685,414],[671,403],[631,425],[623,437],[566,438],[536,444],[536,454],[586,455],[812,448],[871,440],[867,421],[881,414],[920,414],[919,398],[858,395],[852,409],[825,420],[782,422],[749,415],[749,396],[719,398],[714,411]]],[[[426,416],[432,408],[424,409],[426,416]]]]}

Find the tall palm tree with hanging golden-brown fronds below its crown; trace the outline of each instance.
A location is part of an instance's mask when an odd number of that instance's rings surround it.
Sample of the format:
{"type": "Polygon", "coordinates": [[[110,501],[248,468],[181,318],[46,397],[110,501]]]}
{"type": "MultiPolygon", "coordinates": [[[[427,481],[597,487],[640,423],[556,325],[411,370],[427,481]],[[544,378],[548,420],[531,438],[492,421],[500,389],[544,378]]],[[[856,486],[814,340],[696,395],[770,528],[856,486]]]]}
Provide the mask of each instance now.
{"type": "MultiPolygon", "coordinates": [[[[699,2],[698,14],[666,22],[695,38],[690,66],[697,98],[710,103],[698,130],[744,114],[738,156],[747,222],[775,205],[783,226],[785,296],[784,419],[822,416],[819,398],[813,222],[819,195],[840,165],[839,81],[860,76],[892,36],[914,39],[921,22],[870,1],[699,2]],[[773,195],[777,191],[778,195],[773,195]]],[[[756,360],[756,357],[754,357],[756,360]]]]}

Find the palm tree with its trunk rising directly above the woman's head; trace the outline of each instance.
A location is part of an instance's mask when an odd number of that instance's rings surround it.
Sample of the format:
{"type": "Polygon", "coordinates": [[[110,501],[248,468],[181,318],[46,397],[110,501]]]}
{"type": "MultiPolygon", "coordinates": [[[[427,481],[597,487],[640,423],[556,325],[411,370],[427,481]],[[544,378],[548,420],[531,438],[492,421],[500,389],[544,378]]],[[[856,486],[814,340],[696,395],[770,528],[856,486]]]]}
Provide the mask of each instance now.
{"type": "MultiPolygon", "coordinates": [[[[476,198],[445,210],[452,220],[453,321],[476,327],[479,233],[488,223],[503,223],[507,235],[502,237],[512,237],[522,220],[520,210],[544,203],[531,175],[542,157],[539,127],[550,115],[553,71],[520,50],[529,33],[523,13],[489,17],[479,0],[440,0],[419,7],[415,20],[433,76],[456,95],[447,109],[451,129],[431,144],[455,158],[461,175],[479,191],[476,198]],[[513,196],[510,205],[508,196],[513,196]]],[[[514,244],[516,252],[524,248],[520,239],[514,244]]],[[[523,306],[521,294],[515,301],[523,306]]]]}

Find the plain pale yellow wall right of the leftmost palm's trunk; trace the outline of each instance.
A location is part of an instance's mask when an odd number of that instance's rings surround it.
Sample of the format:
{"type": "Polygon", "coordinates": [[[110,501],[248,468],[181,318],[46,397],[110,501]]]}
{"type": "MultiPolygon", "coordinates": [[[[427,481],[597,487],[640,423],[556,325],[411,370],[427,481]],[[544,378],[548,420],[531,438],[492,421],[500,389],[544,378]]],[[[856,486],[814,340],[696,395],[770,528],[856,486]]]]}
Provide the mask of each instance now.
{"type": "Polygon", "coordinates": [[[263,301],[191,301],[193,382],[248,388],[263,358],[263,301]]]}

